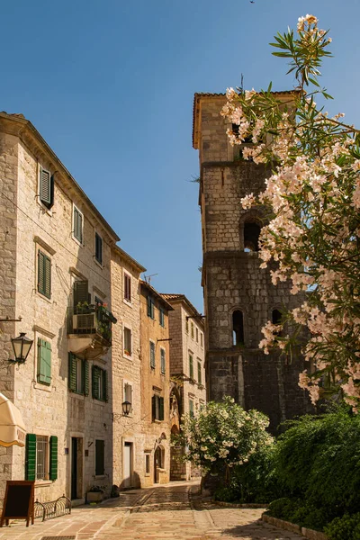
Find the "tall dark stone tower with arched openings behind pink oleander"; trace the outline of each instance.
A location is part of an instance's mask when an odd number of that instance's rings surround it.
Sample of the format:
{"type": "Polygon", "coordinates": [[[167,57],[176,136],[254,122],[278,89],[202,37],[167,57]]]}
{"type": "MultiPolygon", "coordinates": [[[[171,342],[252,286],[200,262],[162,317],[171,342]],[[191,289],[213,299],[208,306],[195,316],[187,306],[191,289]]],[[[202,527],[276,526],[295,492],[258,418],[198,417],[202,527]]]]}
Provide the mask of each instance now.
{"type": "MultiPolygon", "coordinates": [[[[289,99],[289,92],[277,93],[289,99]]],[[[202,287],[205,310],[208,400],[230,395],[241,406],[262,410],[274,431],[285,419],[311,412],[298,386],[300,356],[265,355],[258,348],[267,320],[278,322],[284,306],[298,300],[287,284],[274,286],[261,269],[257,238],[265,212],[243,210],[240,199],[263,191],[266,167],[239,158],[220,116],[224,94],[195,94],[193,148],[199,150],[202,211],[202,287]]]]}

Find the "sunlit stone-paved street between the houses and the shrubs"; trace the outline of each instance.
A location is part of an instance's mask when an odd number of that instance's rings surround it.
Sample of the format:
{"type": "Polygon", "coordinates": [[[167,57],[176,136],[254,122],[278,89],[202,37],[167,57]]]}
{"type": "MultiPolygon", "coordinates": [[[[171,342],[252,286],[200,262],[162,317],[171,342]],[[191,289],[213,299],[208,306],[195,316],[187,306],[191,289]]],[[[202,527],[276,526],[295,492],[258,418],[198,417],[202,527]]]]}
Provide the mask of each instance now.
{"type": "Polygon", "coordinates": [[[194,482],[121,492],[118,499],[73,509],[70,516],[0,528],[0,540],[299,540],[259,521],[262,509],[203,502],[194,482]]]}

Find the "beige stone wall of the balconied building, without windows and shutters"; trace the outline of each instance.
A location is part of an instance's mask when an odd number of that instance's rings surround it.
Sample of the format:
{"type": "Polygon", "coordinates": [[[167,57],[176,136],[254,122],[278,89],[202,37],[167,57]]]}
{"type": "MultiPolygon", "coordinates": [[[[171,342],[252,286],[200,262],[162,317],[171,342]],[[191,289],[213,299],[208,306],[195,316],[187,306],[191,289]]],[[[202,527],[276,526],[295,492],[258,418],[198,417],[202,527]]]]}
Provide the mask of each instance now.
{"type": "MultiPolygon", "coordinates": [[[[9,315],[16,314],[23,318],[12,329],[11,335],[3,334],[8,339],[20,331],[34,339],[31,353],[24,365],[8,368],[13,383],[8,383],[6,395],[14,399],[21,410],[28,433],[58,437],[58,480],[55,482],[39,481],[35,495],[39,500],[53,500],[66,493],[70,495],[71,482],[71,437],[81,438],[78,458],[79,496],[96,483],[107,486],[107,493],[112,485],[112,370],[110,352],[90,362],[90,395],[87,397],[68,392],[68,356],[71,348],[67,338],[67,307],[72,305],[72,285],[76,278],[87,279],[89,292],[101,297],[104,302],[111,302],[110,245],[114,241],[103,223],[99,222],[94,212],[87,205],[79,190],[66,177],[56,172],[54,158],[33,140],[17,139],[3,135],[6,141],[3,147],[2,162],[12,163],[12,171],[7,175],[11,190],[16,190],[17,220],[12,222],[10,231],[11,246],[16,253],[16,298],[15,309],[9,315]],[[16,163],[14,162],[16,157],[16,163]],[[54,205],[49,211],[39,200],[39,166],[55,174],[54,205]],[[16,186],[16,176],[18,183],[16,186]],[[73,203],[84,213],[84,245],[79,246],[72,238],[73,203]],[[17,237],[14,231],[16,225],[17,237]],[[103,266],[94,260],[94,230],[103,237],[103,266]],[[49,255],[51,259],[51,298],[38,293],[37,287],[37,252],[49,255]],[[51,383],[45,386],[37,382],[38,338],[51,344],[51,383]],[[91,395],[91,366],[100,365],[109,375],[109,401],[96,401],[91,395]],[[14,384],[14,395],[9,392],[14,384]],[[104,440],[105,474],[94,478],[95,439],[104,440]]],[[[0,204],[7,206],[4,197],[0,204]]],[[[8,211],[14,215],[13,211],[8,211]]],[[[10,226],[10,220],[8,220],[10,226]]],[[[0,275],[6,275],[4,291],[11,293],[15,270],[9,271],[7,261],[0,264],[0,275]],[[5,266],[5,270],[4,270],[5,266]]],[[[14,298],[14,295],[13,295],[14,298]]],[[[8,300],[1,298],[1,312],[8,314],[8,300]]],[[[12,300],[14,302],[14,300],[12,300]]],[[[111,305],[108,305],[111,310],[111,305]]],[[[8,345],[6,346],[8,349],[8,345]]],[[[8,353],[5,353],[5,356],[8,353]]],[[[25,451],[15,447],[11,465],[11,478],[24,478],[25,451]]],[[[0,458],[4,463],[4,458],[0,458]]],[[[8,476],[8,478],[10,478],[8,476]]],[[[4,476],[3,476],[4,478],[4,476]]]]}

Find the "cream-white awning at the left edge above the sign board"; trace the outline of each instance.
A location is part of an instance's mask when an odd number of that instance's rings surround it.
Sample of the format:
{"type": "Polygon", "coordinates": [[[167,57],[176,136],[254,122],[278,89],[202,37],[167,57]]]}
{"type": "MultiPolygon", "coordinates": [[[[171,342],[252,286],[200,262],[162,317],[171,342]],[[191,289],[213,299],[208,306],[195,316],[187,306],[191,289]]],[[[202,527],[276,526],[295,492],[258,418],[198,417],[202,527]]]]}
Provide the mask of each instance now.
{"type": "Polygon", "coordinates": [[[0,393],[0,446],[25,446],[25,436],[20,410],[0,393]]]}

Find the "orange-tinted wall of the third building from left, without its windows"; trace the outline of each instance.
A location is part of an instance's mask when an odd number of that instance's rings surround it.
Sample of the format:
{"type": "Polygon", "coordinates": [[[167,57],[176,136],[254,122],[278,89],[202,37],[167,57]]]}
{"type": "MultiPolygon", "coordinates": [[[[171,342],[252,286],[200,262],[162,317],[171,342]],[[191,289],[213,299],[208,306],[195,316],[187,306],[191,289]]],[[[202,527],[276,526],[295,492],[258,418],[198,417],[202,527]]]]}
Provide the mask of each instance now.
{"type": "Polygon", "coordinates": [[[170,478],[170,413],[169,413],[169,397],[170,397],[170,348],[169,348],[169,322],[166,308],[165,327],[159,324],[159,307],[164,308],[164,302],[157,297],[157,293],[151,293],[155,302],[155,317],[148,317],[148,289],[144,285],[140,285],[140,332],[141,332],[141,417],[143,420],[144,432],[144,449],[142,459],[143,478],[141,485],[150,486],[154,483],[154,458],[157,446],[160,445],[163,451],[164,463],[162,470],[158,471],[157,480],[159,483],[168,482],[170,478]],[[166,341],[158,341],[166,339],[166,341]],[[150,367],[150,346],[152,340],[155,343],[155,369],[150,367]],[[166,373],[160,372],[160,347],[166,351],[166,373]],[[158,394],[164,398],[164,421],[152,421],[151,398],[158,394]],[[166,438],[159,438],[165,435],[166,438]],[[150,470],[145,473],[145,455],[149,455],[150,470]]]}

